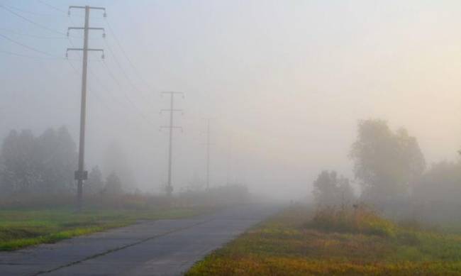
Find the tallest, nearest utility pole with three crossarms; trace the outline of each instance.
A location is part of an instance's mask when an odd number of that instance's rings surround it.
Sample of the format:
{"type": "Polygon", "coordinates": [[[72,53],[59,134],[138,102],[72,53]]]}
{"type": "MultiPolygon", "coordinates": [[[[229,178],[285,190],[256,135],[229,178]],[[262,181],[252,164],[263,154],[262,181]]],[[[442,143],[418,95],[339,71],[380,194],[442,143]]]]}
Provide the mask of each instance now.
{"type": "Polygon", "coordinates": [[[88,48],[88,31],[89,30],[101,30],[103,31],[103,38],[106,37],[104,28],[90,28],[89,27],[89,11],[91,9],[104,11],[104,17],[106,17],[106,9],[94,6],[69,6],[69,15],[71,9],[84,9],[85,10],[85,25],[84,27],[69,27],[67,29],[67,36],[70,30],[83,30],[84,40],[83,48],[67,48],[69,51],[83,51],[83,65],[82,65],[82,101],[80,108],[80,139],[79,139],[79,167],[75,171],[75,180],[77,180],[77,211],[82,210],[82,192],[83,192],[83,181],[88,178],[88,171],[84,170],[84,156],[85,156],[85,120],[87,110],[87,66],[88,66],[88,51],[97,51],[102,53],[104,58],[103,49],[92,49],[88,48]]]}

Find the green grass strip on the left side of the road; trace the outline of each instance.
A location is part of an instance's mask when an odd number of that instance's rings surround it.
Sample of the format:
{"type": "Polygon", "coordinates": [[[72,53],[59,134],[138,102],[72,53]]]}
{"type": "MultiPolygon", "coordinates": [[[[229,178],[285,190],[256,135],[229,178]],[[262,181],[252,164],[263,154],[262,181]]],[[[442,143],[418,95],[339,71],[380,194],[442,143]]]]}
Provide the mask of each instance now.
{"type": "Polygon", "coordinates": [[[89,198],[84,210],[77,213],[73,202],[71,196],[1,202],[0,250],[55,243],[140,220],[179,219],[213,210],[177,200],[128,195],[89,198]]]}

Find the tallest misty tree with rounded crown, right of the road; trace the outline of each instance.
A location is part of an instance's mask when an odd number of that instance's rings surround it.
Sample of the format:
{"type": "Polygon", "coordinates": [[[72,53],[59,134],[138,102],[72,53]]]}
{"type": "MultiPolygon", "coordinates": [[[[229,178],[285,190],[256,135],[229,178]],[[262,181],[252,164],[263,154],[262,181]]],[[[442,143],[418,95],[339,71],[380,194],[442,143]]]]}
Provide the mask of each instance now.
{"type": "Polygon", "coordinates": [[[404,128],[392,132],[382,120],[359,122],[350,158],[362,198],[374,203],[408,195],[411,183],[426,167],[416,138],[404,128]]]}

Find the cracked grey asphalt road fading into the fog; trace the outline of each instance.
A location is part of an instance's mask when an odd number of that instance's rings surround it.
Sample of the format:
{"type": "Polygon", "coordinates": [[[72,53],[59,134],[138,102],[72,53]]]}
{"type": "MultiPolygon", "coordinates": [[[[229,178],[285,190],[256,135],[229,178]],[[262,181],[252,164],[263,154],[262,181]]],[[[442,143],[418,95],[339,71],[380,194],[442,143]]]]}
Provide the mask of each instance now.
{"type": "Polygon", "coordinates": [[[192,219],[144,221],[0,253],[0,275],[182,275],[212,250],[277,211],[236,206],[192,219]]]}

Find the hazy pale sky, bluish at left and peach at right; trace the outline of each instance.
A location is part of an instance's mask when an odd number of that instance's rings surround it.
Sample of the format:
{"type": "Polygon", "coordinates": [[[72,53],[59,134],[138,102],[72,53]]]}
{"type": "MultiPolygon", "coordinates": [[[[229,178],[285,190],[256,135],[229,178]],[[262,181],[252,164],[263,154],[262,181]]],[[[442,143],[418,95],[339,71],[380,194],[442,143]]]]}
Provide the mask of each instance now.
{"type": "MultiPolygon", "coordinates": [[[[77,141],[81,11],[90,46],[87,164],[118,143],[138,184],[166,180],[167,97],[177,99],[175,186],[204,177],[204,118],[211,117],[211,183],[301,197],[320,170],[351,176],[357,120],[384,118],[416,136],[426,160],[456,160],[461,147],[460,1],[67,1],[0,0],[0,136],[66,125],[77,141]],[[57,9],[52,9],[44,3],[57,9]],[[30,21],[46,26],[45,30],[30,21]],[[34,36],[30,36],[34,35],[34,36]],[[39,36],[39,37],[35,37],[39,36]],[[115,54],[115,56],[111,53],[115,54]],[[8,52],[8,53],[6,53],[8,52]],[[27,55],[20,57],[11,53],[27,55]],[[77,69],[74,72],[70,63],[77,69]],[[121,65],[121,66],[119,66],[121,65]],[[134,66],[132,66],[134,65],[134,66]],[[134,68],[133,68],[134,67],[134,68]],[[122,69],[121,69],[122,68],[122,69]],[[109,69],[109,70],[108,70],[109,69]],[[113,74],[114,78],[111,77],[113,74]]],[[[108,173],[108,172],[105,172],[108,173]]]]}

